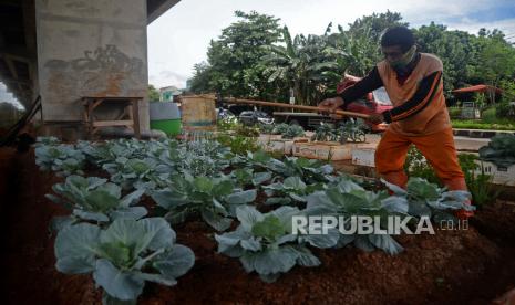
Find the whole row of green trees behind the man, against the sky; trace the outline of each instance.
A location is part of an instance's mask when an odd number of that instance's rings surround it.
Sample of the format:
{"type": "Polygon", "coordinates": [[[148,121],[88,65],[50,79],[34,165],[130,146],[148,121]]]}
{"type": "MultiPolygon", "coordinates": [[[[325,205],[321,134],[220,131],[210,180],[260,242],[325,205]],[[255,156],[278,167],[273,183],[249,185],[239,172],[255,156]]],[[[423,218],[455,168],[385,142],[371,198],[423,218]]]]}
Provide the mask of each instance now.
{"type": "MultiPolygon", "coordinates": [[[[293,92],[297,104],[316,105],[332,96],[343,73],[364,76],[383,59],[380,34],[393,25],[408,25],[396,12],[373,13],[357,19],[348,30],[332,22],[319,35],[291,36],[279,19],[256,12],[236,12],[241,20],[212,41],[208,62],[194,66],[194,92],[287,101],[293,92]]],[[[444,90],[486,83],[501,86],[515,73],[515,49],[498,30],[478,35],[451,31],[443,24],[412,29],[419,51],[437,55],[444,65],[444,90]]],[[[513,96],[513,95],[512,95],[513,96]]],[[[495,96],[488,94],[490,101],[495,96]]],[[[513,98],[512,98],[513,99],[513,98]]]]}

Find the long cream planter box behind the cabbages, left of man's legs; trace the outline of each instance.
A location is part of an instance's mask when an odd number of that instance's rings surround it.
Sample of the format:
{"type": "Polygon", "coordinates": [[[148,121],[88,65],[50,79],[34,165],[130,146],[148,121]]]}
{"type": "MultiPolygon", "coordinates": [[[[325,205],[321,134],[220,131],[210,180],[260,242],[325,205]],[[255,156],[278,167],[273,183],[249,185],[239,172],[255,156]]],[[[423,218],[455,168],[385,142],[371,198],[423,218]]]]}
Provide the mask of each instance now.
{"type": "Polygon", "coordinates": [[[321,160],[350,160],[354,144],[334,141],[293,143],[293,156],[321,160]]]}

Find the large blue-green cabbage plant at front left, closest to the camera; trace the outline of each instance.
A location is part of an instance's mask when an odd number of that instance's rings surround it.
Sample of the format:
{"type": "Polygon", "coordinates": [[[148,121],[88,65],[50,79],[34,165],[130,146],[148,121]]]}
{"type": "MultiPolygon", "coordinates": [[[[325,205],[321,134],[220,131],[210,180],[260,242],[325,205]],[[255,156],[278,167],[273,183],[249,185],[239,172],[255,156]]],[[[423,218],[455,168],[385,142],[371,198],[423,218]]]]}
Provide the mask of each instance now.
{"type": "Polygon", "coordinates": [[[55,239],[55,257],[60,272],[92,273],[104,304],[135,304],[146,281],[173,286],[195,262],[189,248],[175,244],[175,232],[162,218],[117,219],[105,230],[90,223],[66,227],[55,239]]]}

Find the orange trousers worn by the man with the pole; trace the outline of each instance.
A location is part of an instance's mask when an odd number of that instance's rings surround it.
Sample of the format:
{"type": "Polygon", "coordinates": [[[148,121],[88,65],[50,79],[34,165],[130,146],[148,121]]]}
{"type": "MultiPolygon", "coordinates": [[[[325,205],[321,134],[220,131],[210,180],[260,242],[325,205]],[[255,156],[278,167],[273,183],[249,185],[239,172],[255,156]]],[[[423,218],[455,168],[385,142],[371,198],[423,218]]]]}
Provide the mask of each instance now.
{"type": "Polygon", "coordinates": [[[387,130],[375,150],[375,170],[383,179],[405,188],[408,176],[403,166],[411,144],[422,152],[449,190],[467,190],[452,128],[416,137],[387,130]]]}

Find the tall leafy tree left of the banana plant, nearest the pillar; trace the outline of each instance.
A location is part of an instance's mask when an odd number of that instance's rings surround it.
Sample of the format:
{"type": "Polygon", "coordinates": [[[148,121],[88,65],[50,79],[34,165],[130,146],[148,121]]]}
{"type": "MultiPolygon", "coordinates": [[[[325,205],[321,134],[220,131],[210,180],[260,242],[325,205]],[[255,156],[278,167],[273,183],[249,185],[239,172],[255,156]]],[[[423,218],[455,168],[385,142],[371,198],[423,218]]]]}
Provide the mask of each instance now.
{"type": "Polygon", "coordinates": [[[195,67],[192,87],[223,95],[269,98],[277,88],[262,77],[266,66],[260,64],[265,55],[261,46],[279,40],[279,19],[255,11],[235,14],[243,20],[224,29],[218,40],[212,40],[207,65],[195,67]]]}

